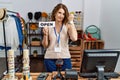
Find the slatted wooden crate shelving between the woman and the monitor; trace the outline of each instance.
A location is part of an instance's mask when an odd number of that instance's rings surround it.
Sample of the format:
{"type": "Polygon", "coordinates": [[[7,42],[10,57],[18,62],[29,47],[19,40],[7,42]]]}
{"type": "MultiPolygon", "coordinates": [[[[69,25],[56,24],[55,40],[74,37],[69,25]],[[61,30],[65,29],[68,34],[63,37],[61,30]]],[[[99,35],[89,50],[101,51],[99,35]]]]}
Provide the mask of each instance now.
{"type": "Polygon", "coordinates": [[[78,40],[74,42],[70,41],[69,50],[71,54],[72,69],[80,71],[83,56],[83,39],[82,39],[83,30],[77,29],[77,33],[78,40]]]}

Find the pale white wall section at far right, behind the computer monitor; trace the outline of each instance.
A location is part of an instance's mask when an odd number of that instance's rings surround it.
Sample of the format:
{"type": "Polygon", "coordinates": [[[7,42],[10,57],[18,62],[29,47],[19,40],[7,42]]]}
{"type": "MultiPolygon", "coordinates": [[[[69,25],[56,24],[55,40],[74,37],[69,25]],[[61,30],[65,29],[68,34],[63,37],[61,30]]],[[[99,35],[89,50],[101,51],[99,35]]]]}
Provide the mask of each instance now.
{"type": "MultiPolygon", "coordinates": [[[[120,0],[101,1],[101,31],[105,48],[120,49],[120,0]]],[[[115,69],[120,72],[120,56],[115,69]]]]}

